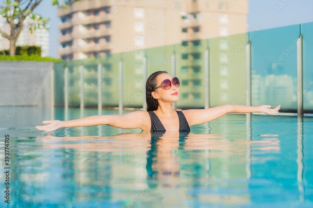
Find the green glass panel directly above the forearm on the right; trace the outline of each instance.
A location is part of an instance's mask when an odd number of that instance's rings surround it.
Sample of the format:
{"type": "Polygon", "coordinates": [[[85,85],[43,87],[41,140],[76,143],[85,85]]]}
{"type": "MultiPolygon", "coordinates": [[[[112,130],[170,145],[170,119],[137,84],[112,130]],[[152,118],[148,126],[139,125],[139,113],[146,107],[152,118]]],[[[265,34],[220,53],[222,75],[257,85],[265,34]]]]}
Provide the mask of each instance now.
{"type": "Polygon", "coordinates": [[[210,107],[246,105],[247,40],[246,33],[209,40],[210,107]]]}

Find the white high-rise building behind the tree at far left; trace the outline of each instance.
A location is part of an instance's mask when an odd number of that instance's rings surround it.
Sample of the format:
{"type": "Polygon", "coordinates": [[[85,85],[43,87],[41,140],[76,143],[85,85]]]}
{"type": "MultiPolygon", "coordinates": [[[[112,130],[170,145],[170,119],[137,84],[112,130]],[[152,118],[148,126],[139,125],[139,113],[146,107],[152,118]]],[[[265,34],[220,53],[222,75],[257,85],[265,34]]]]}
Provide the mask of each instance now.
{"type": "MultiPolygon", "coordinates": [[[[44,28],[39,28],[30,32],[29,27],[33,24],[33,19],[26,17],[23,22],[23,29],[18,36],[16,46],[40,46],[41,56],[49,56],[49,31],[44,28]]],[[[0,15],[0,28],[10,34],[11,27],[6,18],[0,15]]],[[[8,50],[10,48],[10,41],[0,34],[0,50],[8,50]]]]}

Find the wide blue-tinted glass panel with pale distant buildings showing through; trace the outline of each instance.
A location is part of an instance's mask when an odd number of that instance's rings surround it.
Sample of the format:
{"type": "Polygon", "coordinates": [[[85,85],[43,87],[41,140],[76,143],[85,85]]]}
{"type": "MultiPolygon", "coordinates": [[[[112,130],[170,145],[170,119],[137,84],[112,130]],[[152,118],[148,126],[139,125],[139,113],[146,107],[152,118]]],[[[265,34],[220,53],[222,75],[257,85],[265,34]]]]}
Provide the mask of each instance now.
{"type": "Polygon", "coordinates": [[[296,112],[299,36],[300,25],[261,30],[251,36],[253,106],[281,105],[282,112],[296,112]]]}

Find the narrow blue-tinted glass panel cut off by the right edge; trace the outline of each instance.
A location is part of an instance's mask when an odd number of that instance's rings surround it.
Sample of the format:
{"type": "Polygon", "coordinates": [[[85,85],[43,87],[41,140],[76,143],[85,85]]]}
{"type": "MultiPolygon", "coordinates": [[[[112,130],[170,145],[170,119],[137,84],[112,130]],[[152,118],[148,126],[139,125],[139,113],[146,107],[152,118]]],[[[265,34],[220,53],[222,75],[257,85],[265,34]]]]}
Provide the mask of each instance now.
{"type": "Polygon", "coordinates": [[[303,109],[313,110],[313,22],[301,25],[303,67],[303,109]]]}

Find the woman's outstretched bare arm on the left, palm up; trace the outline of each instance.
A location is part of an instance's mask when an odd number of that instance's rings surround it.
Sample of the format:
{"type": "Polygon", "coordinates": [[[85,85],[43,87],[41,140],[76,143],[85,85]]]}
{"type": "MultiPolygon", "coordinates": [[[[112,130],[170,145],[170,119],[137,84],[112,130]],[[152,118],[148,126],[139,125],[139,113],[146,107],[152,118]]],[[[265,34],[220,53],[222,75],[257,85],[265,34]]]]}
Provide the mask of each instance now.
{"type": "Polygon", "coordinates": [[[82,119],[74,119],[70,121],[51,120],[42,123],[50,123],[46,126],[36,126],[37,129],[43,131],[54,131],[59,128],[77,127],[77,126],[94,126],[109,125],[117,128],[142,128],[145,111],[134,111],[122,115],[95,115],[82,119]]]}

